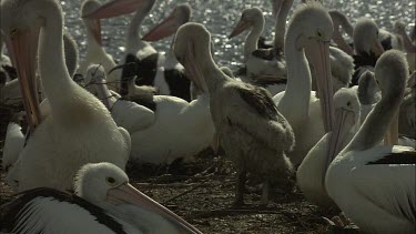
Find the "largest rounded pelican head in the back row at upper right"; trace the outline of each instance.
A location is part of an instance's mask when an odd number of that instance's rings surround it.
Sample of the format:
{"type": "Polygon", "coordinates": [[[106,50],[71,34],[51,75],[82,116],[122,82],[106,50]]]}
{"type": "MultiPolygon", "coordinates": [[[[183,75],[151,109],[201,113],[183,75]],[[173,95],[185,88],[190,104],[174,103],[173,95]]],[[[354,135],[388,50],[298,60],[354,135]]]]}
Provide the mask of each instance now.
{"type": "Polygon", "coordinates": [[[377,57],[384,52],[378,40],[378,27],[374,20],[359,18],[354,29],[354,48],[357,54],[373,52],[377,57]]]}

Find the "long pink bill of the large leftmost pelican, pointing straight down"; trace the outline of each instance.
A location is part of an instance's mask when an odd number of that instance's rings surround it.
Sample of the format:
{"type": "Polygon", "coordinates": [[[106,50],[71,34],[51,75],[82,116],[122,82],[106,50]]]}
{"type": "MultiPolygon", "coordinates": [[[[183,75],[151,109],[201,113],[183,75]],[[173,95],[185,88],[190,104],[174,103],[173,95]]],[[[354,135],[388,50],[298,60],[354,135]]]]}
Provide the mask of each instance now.
{"type": "Polygon", "coordinates": [[[8,50],[12,54],[13,64],[18,70],[23,106],[29,128],[33,131],[41,122],[39,94],[37,85],[37,64],[39,28],[24,31],[12,31],[7,37],[8,50]]]}

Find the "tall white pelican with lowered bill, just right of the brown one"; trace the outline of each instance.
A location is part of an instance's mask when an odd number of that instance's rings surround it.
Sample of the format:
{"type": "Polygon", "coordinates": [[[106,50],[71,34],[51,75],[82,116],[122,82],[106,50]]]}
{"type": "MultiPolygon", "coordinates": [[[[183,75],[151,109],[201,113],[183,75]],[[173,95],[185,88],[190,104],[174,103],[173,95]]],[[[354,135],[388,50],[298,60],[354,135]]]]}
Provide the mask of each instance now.
{"type": "Polygon", "coordinates": [[[291,123],[296,145],[288,154],[300,165],[313,145],[332,131],[334,124],[329,40],[333,24],[328,12],[317,2],[295,10],[285,38],[287,85],[273,98],[277,110],[291,123]],[[315,69],[319,100],[311,92],[311,71],[305,52],[315,69]],[[323,114],[321,114],[323,113],[323,114]]]}

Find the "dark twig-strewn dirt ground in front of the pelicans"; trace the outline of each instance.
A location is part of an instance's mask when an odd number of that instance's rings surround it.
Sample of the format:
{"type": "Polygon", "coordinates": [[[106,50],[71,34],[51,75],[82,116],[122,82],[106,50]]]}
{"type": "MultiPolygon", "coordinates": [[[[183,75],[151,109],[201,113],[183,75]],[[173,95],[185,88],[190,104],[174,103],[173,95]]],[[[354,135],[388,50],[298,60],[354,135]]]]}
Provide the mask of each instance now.
{"type": "MultiPolygon", "coordinates": [[[[4,143],[9,109],[0,106],[0,149],[4,143]]],[[[2,155],[2,151],[0,151],[2,155]]],[[[246,205],[232,207],[235,172],[232,164],[214,157],[211,151],[194,162],[171,166],[128,165],[130,183],[195,225],[203,233],[358,233],[329,225],[335,212],[321,211],[306,202],[301,192],[271,193],[271,203],[260,205],[261,186],[248,181],[246,205]]],[[[0,169],[0,205],[12,200],[0,169]]]]}

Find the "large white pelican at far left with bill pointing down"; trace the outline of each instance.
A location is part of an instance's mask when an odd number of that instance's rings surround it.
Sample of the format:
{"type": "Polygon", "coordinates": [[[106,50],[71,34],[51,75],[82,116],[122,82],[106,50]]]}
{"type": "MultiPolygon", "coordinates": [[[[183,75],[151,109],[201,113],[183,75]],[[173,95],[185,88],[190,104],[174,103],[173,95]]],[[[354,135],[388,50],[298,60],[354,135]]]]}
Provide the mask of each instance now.
{"type": "Polygon", "coordinates": [[[106,161],[124,169],[129,133],[118,128],[100,100],[68,73],[60,4],[54,0],[7,0],[0,10],[1,30],[17,64],[31,129],[17,162],[19,191],[39,186],[69,190],[78,169],[90,162],[106,161]],[[50,115],[44,120],[34,93],[37,55],[50,104],[50,115]]]}

